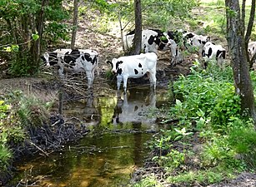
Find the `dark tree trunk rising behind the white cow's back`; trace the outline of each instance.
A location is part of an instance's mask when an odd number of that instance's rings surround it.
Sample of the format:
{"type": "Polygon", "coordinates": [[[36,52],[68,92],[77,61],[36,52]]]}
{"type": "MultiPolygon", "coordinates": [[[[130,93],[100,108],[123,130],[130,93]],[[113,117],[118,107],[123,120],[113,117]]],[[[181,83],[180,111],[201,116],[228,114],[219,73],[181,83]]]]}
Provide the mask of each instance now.
{"type": "Polygon", "coordinates": [[[138,55],[141,52],[141,42],[142,42],[142,12],[141,12],[141,1],[134,0],[134,10],[135,10],[135,35],[133,41],[133,49],[131,53],[133,55],[138,55]]]}

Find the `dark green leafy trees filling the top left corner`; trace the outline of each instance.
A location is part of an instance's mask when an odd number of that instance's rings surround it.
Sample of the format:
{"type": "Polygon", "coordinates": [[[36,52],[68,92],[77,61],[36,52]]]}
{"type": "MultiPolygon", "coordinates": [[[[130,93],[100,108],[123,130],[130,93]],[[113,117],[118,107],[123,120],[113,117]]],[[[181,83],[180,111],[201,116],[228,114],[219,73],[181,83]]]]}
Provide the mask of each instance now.
{"type": "Polygon", "coordinates": [[[51,0],[47,5],[38,0],[0,2],[0,55],[8,60],[12,76],[30,76],[38,72],[38,41],[48,45],[59,38],[68,39],[68,27],[60,22],[68,17],[62,2],[51,0]],[[39,35],[41,17],[47,23],[44,24],[43,35],[39,35]]]}

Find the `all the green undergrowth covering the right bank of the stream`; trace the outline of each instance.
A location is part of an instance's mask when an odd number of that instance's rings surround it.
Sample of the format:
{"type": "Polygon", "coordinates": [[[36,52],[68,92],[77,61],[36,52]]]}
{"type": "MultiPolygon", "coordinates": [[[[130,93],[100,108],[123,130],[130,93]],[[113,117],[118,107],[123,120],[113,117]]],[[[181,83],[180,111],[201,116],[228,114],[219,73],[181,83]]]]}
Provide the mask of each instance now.
{"type": "MultiPolygon", "coordinates": [[[[165,122],[178,124],[169,124],[171,130],[163,130],[149,143],[168,183],[209,185],[256,169],[256,132],[241,113],[232,80],[231,67],[220,71],[210,63],[207,70],[193,66],[190,75],[170,85],[176,100],[165,122]]],[[[144,185],[153,181],[158,180],[151,176],[135,186],[162,186],[144,185]]]]}

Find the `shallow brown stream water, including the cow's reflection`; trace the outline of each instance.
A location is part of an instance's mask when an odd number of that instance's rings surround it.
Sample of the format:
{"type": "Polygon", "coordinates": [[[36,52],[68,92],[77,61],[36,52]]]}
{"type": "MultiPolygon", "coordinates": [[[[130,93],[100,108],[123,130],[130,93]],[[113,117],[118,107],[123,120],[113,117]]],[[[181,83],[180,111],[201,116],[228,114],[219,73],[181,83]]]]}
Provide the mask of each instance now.
{"type": "Polygon", "coordinates": [[[38,186],[127,186],[133,170],[143,165],[145,142],[163,128],[153,114],[166,102],[166,91],[141,88],[126,95],[109,91],[66,103],[64,116],[83,122],[94,135],[48,158],[23,161],[13,184],[33,176],[38,186]],[[100,133],[104,130],[113,132],[100,133]]]}

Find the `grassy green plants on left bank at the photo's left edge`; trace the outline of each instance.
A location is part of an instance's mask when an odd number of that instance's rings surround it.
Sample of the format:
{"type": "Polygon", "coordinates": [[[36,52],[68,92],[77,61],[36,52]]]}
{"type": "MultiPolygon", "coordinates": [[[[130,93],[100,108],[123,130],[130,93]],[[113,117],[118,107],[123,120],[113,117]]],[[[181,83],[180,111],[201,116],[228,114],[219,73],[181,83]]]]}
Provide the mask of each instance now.
{"type": "Polygon", "coordinates": [[[0,101],[0,170],[5,170],[13,157],[9,147],[22,144],[29,127],[40,126],[47,121],[46,106],[24,96],[22,91],[13,91],[0,101]]]}

